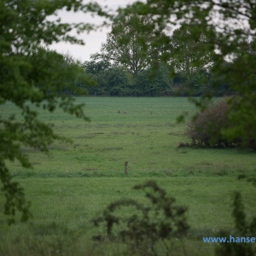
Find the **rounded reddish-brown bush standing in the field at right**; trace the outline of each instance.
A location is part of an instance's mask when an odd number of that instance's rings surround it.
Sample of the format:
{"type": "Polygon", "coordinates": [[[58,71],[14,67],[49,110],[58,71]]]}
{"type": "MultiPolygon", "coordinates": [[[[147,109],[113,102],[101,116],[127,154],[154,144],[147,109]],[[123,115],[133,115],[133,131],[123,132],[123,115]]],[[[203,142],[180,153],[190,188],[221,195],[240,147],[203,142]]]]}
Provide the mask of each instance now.
{"type": "Polygon", "coordinates": [[[196,119],[191,119],[186,130],[193,144],[217,145],[219,148],[241,146],[241,139],[236,138],[229,142],[221,134],[221,130],[228,127],[226,113],[228,105],[226,99],[212,104],[202,113],[197,113],[196,119]]]}

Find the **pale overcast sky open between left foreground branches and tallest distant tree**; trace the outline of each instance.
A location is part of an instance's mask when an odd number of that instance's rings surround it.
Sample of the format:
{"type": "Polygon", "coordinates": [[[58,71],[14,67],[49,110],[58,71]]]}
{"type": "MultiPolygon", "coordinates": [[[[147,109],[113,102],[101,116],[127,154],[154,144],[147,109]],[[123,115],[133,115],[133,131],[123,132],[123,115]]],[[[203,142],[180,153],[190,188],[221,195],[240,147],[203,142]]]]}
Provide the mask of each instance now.
{"type": "MultiPolygon", "coordinates": [[[[96,0],[97,3],[100,3],[102,6],[108,5],[110,9],[118,9],[119,7],[125,7],[128,3],[133,3],[136,0],[96,0]]],[[[85,1],[84,1],[85,2],[85,1]]],[[[89,1],[88,1],[89,2],[89,1]]],[[[100,17],[92,18],[90,15],[84,13],[69,13],[61,11],[58,13],[61,17],[62,22],[90,22],[95,24],[100,24],[102,19],[100,17]]],[[[106,41],[107,33],[110,32],[110,27],[104,28],[101,31],[90,32],[87,34],[86,32],[80,34],[78,38],[82,38],[84,40],[85,45],[78,44],[52,44],[49,48],[56,49],[59,53],[69,53],[73,55],[79,61],[89,61],[90,55],[98,52],[101,48],[101,44],[106,41]]]]}

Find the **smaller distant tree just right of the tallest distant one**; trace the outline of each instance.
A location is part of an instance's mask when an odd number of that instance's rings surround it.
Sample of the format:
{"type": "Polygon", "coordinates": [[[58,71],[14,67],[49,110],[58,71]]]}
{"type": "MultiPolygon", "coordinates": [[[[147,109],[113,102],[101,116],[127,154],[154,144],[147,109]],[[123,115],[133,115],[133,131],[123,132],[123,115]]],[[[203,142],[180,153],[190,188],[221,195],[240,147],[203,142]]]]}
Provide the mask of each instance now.
{"type": "Polygon", "coordinates": [[[201,32],[195,40],[189,29],[190,25],[182,26],[172,33],[168,49],[170,66],[172,72],[177,73],[182,80],[182,86],[177,93],[198,95],[206,91],[214,51],[201,47],[207,43],[205,33],[201,32]]]}

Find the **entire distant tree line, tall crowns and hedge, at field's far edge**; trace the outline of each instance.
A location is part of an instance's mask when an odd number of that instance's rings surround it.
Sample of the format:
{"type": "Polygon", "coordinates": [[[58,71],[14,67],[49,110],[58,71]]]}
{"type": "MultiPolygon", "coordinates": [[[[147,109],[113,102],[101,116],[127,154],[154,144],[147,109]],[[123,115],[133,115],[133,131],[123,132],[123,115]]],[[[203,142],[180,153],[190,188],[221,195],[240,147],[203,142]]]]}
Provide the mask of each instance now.
{"type": "MultiPolygon", "coordinates": [[[[202,96],[208,92],[213,96],[227,96],[234,93],[221,75],[211,72],[215,53],[202,50],[201,44],[207,41],[204,33],[195,40],[188,28],[176,29],[167,48],[156,48],[154,45],[162,34],[161,28],[154,30],[152,20],[137,15],[114,21],[100,52],[90,55],[90,61],[82,65],[84,72],[97,82],[96,86],[86,88],[88,94],[202,96]],[[138,25],[148,32],[137,32],[138,25]]],[[[70,55],[65,59],[67,65],[74,62],[70,55]]],[[[229,66],[230,62],[223,61],[223,69],[229,66]]],[[[66,89],[61,93],[76,95],[66,89]]]]}

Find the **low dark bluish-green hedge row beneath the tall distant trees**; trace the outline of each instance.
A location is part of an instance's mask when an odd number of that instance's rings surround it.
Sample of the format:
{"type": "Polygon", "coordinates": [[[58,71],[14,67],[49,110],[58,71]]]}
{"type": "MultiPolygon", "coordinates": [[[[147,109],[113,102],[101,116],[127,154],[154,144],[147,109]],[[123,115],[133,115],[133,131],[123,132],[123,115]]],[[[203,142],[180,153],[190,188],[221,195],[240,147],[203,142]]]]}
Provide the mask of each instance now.
{"type": "Polygon", "coordinates": [[[137,75],[121,66],[112,67],[108,61],[85,61],[83,67],[97,82],[96,86],[86,88],[90,96],[201,96],[206,91],[215,96],[233,94],[229,84],[207,70],[193,75],[176,73],[171,78],[169,67],[163,65],[156,73],[148,68],[137,75]]]}

